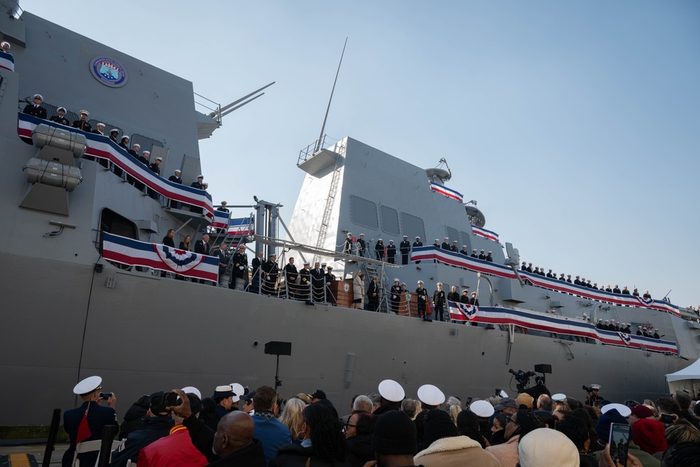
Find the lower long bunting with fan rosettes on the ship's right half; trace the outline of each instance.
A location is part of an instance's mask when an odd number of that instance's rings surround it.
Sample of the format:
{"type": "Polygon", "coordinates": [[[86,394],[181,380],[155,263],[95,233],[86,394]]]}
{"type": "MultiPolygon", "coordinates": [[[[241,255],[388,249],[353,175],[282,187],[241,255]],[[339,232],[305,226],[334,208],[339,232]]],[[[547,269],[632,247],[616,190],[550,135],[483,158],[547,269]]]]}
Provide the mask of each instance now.
{"type": "Polygon", "coordinates": [[[500,307],[475,307],[459,302],[447,302],[450,319],[455,321],[469,321],[474,323],[488,323],[507,325],[513,324],[533,330],[541,330],[547,333],[561,335],[575,335],[589,337],[606,345],[619,347],[631,347],[633,349],[645,349],[657,352],[670,352],[678,355],[678,344],[671,340],[653,339],[640,335],[616,333],[610,330],[596,329],[587,321],[563,318],[560,316],[546,316],[535,312],[500,308],[500,307]]]}

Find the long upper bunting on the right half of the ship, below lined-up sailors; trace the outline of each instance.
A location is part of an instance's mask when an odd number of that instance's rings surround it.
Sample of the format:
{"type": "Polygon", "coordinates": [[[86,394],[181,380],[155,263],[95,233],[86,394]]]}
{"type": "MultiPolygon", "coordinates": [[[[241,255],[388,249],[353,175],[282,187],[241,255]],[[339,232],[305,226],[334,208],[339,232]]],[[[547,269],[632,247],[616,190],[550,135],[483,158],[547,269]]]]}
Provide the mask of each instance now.
{"type": "MultiPolygon", "coordinates": [[[[470,256],[453,251],[435,248],[435,246],[417,246],[411,253],[412,261],[438,260],[442,263],[464,267],[470,271],[483,272],[497,277],[505,277],[506,279],[516,279],[515,273],[510,267],[498,265],[485,260],[471,258],[470,256]]],[[[612,293],[605,291],[596,291],[594,288],[577,286],[569,284],[566,281],[551,279],[549,277],[540,276],[526,271],[518,271],[520,277],[535,286],[547,288],[550,291],[561,293],[572,293],[591,300],[599,302],[608,302],[615,305],[628,305],[631,307],[640,307],[647,309],[656,309],[661,312],[671,313],[675,316],[680,316],[678,306],[673,305],[663,300],[650,300],[634,295],[626,295],[622,293],[612,293]]]]}

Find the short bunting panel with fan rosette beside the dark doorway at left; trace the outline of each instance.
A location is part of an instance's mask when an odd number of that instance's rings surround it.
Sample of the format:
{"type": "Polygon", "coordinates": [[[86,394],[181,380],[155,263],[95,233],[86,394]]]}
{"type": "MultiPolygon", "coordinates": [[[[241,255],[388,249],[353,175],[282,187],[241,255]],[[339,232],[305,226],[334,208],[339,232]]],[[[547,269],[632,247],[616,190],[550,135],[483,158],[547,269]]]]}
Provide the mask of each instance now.
{"type": "Polygon", "coordinates": [[[153,267],[181,276],[218,281],[218,258],[103,233],[102,256],[130,266],[153,267]]]}

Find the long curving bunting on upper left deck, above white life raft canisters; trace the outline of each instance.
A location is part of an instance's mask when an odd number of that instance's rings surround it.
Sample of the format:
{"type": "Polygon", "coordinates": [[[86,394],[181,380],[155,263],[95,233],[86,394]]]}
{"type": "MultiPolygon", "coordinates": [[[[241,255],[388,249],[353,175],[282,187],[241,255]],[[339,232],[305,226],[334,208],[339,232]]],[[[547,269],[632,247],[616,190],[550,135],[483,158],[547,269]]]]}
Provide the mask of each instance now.
{"type": "MultiPolygon", "coordinates": [[[[25,113],[18,114],[18,134],[20,137],[31,138],[31,132],[34,131],[37,125],[41,124],[61,128],[63,130],[66,129],[65,125],[59,125],[58,123],[43,120],[25,113]]],[[[148,167],[139,162],[137,158],[127,153],[124,148],[120,148],[120,146],[115,144],[109,137],[102,136],[101,134],[83,132],[77,128],[70,128],[69,130],[85,135],[85,139],[87,139],[86,155],[109,160],[156,193],[160,193],[170,200],[201,207],[208,218],[214,218],[214,204],[211,202],[211,195],[206,191],[181,185],[180,183],[174,183],[154,174],[151,169],[148,169],[148,167]]]]}

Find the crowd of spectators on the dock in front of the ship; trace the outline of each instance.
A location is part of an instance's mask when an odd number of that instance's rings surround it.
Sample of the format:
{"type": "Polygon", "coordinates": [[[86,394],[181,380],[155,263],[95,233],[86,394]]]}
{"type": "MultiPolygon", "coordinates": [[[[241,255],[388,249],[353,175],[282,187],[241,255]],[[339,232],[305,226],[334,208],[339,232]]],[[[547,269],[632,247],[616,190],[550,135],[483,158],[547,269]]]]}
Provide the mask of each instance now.
{"type": "MultiPolygon", "coordinates": [[[[97,380],[96,380],[97,378],[97,380]]],[[[116,424],[116,397],[90,377],[73,392],[84,403],[66,411],[71,465],[80,440],[99,439],[116,424]],[[85,392],[87,391],[87,392],[85,392]],[[102,403],[107,403],[103,407],[102,403]],[[89,433],[80,433],[85,414],[89,433]]],[[[126,466],[634,466],[700,465],[700,403],[688,391],[655,401],[598,396],[584,401],[551,394],[544,384],[514,398],[504,391],[482,399],[446,396],[424,384],[414,397],[391,379],[341,408],[325,392],[286,400],[271,386],[248,391],[217,386],[202,398],[193,386],[139,398],[127,411],[111,465],[126,466]],[[346,414],[342,414],[342,412],[346,414]],[[629,447],[609,443],[611,425],[629,430],[629,447]],[[623,452],[626,461],[617,463],[623,452]]],[[[700,395],[699,395],[700,396],[700,395]]],[[[83,428],[84,429],[84,428],[83,428]]],[[[92,465],[96,453],[79,454],[92,465]],[[90,454],[90,455],[88,455],[90,454]]]]}

